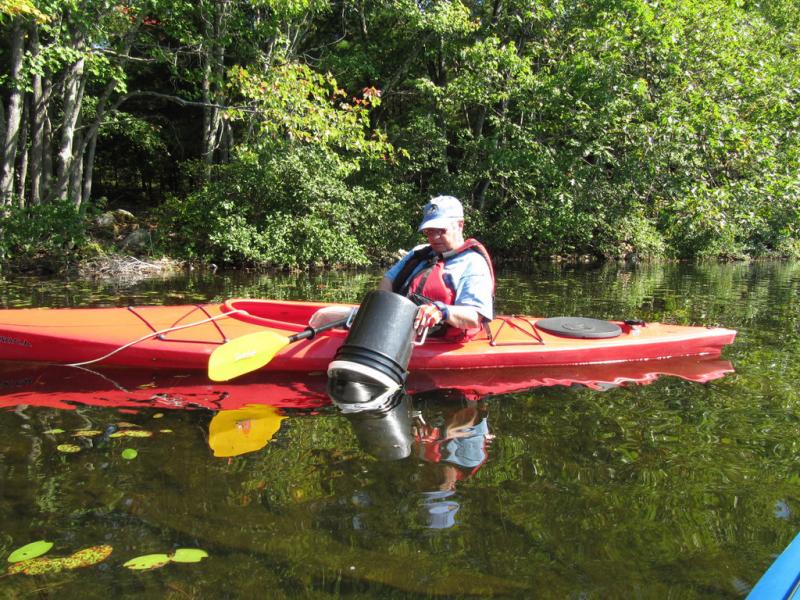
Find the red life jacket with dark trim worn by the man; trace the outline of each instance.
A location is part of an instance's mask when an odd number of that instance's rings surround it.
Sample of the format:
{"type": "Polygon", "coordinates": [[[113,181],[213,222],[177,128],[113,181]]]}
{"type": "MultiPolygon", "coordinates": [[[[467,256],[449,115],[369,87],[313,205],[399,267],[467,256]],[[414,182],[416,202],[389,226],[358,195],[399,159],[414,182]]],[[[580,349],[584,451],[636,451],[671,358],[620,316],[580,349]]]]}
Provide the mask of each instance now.
{"type": "MultiPolygon", "coordinates": [[[[394,279],[392,290],[411,298],[417,304],[436,300],[445,304],[454,304],[456,291],[445,281],[444,265],[449,259],[469,251],[475,251],[483,256],[486,264],[489,265],[489,273],[492,276],[492,296],[494,296],[495,279],[492,259],[489,257],[486,248],[479,241],[471,238],[458,248],[448,250],[442,254],[435,253],[430,246],[423,246],[415,250],[414,255],[406,262],[403,269],[394,279]],[[425,264],[425,267],[409,278],[420,263],[425,264]]],[[[447,325],[441,331],[432,333],[435,333],[437,337],[444,337],[450,341],[462,341],[474,337],[481,329],[482,327],[473,327],[465,330],[447,325]]]]}

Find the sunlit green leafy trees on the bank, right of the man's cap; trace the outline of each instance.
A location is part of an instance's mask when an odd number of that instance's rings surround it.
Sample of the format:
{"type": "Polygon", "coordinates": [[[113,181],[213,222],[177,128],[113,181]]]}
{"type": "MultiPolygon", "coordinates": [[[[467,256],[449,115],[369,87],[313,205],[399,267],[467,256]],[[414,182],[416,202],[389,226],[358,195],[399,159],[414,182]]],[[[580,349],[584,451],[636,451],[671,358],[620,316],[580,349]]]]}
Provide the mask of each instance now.
{"type": "Polygon", "coordinates": [[[396,177],[467,200],[496,251],[796,252],[795,5],[447,4],[375,7],[362,22],[391,14],[397,35],[326,60],[400,76],[384,106],[413,159],[396,177]]]}

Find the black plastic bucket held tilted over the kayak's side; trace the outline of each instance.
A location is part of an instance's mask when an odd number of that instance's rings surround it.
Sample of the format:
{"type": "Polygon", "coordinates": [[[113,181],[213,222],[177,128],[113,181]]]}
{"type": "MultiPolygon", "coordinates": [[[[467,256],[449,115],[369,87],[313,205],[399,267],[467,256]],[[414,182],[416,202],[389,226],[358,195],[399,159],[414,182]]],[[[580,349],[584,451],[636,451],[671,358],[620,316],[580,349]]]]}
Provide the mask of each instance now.
{"type": "Polygon", "coordinates": [[[393,292],[370,292],[361,303],[344,344],[328,365],[328,377],[401,385],[406,379],[418,307],[393,292]]]}

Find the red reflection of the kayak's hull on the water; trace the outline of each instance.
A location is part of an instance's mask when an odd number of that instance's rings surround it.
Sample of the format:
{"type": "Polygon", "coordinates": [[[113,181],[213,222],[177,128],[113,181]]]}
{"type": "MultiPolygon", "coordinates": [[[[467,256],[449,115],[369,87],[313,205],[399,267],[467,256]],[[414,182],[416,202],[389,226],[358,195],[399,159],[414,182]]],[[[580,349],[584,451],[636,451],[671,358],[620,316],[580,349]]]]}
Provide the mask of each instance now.
{"type": "MultiPolygon", "coordinates": [[[[488,395],[555,385],[607,389],[648,384],[661,375],[705,383],[731,373],[719,358],[681,357],[651,361],[564,367],[418,371],[406,381],[415,394],[456,390],[475,400],[488,395]]],[[[232,410],[252,404],[316,408],[328,404],[322,373],[251,373],[225,383],[199,371],[127,368],[88,370],[37,363],[0,364],[0,409],[25,404],[53,408],[95,405],[120,408],[232,410]]]]}

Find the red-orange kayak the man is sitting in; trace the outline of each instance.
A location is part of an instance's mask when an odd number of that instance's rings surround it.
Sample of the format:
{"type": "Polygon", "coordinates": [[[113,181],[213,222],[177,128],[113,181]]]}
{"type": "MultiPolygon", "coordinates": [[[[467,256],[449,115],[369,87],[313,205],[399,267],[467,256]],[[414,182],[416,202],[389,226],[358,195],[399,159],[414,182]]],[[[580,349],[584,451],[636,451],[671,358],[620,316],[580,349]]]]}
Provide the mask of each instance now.
{"type": "MultiPolygon", "coordinates": [[[[313,302],[229,300],[222,304],[0,311],[0,360],[99,363],[205,369],[211,352],[242,335],[272,330],[292,335],[324,306],[313,302]],[[103,358],[105,357],[105,358],[103,358]]],[[[616,323],[619,335],[568,337],[534,317],[498,317],[467,343],[430,339],[415,348],[409,370],[530,367],[719,355],[735,331],[661,323],[616,323]],[[490,336],[491,335],[491,339],[490,336]]],[[[580,332],[578,332],[580,333],[580,332]]],[[[287,345],[265,369],[324,371],[346,331],[332,330],[287,345]]]]}

